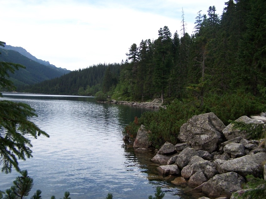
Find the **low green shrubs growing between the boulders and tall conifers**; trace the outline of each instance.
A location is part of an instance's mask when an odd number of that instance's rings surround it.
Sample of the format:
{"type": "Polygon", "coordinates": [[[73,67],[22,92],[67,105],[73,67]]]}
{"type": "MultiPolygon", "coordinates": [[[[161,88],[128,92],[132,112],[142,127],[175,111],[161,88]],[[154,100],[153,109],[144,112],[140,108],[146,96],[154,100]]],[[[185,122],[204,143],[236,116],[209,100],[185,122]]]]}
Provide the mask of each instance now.
{"type": "Polygon", "coordinates": [[[125,127],[124,133],[135,138],[138,128],[143,124],[150,130],[149,139],[154,147],[159,148],[166,141],[178,143],[178,134],[182,124],[194,115],[213,112],[225,125],[229,120],[235,120],[243,115],[260,113],[265,110],[265,104],[250,93],[237,90],[224,95],[207,94],[204,104],[195,102],[192,98],[183,101],[174,100],[166,109],[144,112],[141,118],[135,119],[125,127]]]}

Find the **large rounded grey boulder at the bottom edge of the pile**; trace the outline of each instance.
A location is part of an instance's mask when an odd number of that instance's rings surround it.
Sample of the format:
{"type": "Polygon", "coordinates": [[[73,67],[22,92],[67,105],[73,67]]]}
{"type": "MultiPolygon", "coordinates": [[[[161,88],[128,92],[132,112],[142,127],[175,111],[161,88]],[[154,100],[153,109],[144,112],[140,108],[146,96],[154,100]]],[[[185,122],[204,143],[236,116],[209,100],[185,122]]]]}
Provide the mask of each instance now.
{"type": "Polygon", "coordinates": [[[235,172],[215,175],[202,187],[202,192],[208,197],[231,197],[233,192],[241,190],[245,182],[244,177],[235,172]]]}

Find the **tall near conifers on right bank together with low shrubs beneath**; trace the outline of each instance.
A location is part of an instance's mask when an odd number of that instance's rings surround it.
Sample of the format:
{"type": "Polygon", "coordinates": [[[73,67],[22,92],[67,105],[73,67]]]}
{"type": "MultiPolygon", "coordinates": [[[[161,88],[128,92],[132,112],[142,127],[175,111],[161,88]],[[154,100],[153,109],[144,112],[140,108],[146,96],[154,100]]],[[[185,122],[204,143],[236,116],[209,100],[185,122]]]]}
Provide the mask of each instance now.
{"type": "Polygon", "coordinates": [[[113,96],[160,96],[171,103],[142,114],[125,134],[135,137],[143,124],[159,148],[166,141],[178,143],[180,127],[193,115],[213,112],[227,125],[266,111],[266,2],[230,0],[225,5],[221,17],[214,6],[207,15],[198,12],[192,36],[183,31],[181,38],[177,32],[171,37],[164,27],[155,41],[130,47],[130,63],[121,70],[113,96]]]}

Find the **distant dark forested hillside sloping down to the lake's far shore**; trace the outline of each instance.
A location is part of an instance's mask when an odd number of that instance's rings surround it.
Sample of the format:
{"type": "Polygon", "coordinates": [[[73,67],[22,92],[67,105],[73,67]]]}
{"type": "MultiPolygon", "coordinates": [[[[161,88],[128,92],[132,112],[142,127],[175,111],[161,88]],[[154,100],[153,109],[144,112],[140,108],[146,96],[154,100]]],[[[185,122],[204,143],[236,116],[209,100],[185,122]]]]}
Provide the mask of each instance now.
{"type": "Polygon", "coordinates": [[[21,91],[55,95],[95,95],[102,89],[106,69],[111,73],[108,78],[111,78],[113,84],[116,85],[120,74],[120,64],[104,63],[74,70],[61,77],[24,87],[21,91]]]}

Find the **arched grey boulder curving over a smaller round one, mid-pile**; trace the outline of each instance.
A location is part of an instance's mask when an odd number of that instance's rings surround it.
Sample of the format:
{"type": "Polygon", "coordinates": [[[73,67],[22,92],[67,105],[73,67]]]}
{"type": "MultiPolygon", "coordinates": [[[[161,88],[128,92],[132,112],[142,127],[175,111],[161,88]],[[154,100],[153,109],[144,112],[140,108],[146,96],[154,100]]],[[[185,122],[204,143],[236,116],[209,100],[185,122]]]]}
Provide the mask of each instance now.
{"type": "Polygon", "coordinates": [[[188,165],[182,169],[181,176],[188,179],[196,172],[207,173],[208,175],[206,177],[210,179],[216,174],[216,169],[210,161],[204,160],[199,156],[193,156],[188,165]]]}

